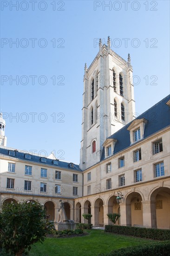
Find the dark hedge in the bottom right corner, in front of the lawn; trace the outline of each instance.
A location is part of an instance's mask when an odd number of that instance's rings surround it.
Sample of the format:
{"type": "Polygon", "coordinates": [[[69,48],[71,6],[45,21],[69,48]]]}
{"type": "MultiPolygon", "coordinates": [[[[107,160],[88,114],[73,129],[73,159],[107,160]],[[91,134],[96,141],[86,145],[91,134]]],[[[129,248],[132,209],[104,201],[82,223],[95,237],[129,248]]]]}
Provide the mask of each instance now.
{"type": "Polygon", "coordinates": [[[116,249],[108,254],[98,254],[98,256],[169,256],[170,241],[148,243],[138,246],[116,249]]]}

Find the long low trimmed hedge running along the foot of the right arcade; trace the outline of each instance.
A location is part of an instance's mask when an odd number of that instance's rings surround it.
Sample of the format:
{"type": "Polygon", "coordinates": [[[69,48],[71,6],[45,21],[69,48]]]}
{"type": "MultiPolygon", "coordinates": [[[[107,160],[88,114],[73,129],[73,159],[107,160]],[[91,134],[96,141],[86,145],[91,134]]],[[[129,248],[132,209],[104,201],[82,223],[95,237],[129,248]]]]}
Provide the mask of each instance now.
{"type": "Polygon", "coordinates": [[[139,236],[157,240],[170,239],[170,229],[148,229],[118,225],[105,225],[105,232],[111,232],[125,236],[139,236]]]}

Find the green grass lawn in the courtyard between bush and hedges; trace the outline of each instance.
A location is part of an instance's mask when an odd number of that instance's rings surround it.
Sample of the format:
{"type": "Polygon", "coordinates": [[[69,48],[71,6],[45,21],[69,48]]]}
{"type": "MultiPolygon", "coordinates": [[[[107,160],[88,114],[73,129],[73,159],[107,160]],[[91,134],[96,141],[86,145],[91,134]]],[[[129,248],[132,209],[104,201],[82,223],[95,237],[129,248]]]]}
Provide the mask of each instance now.
{"type": "Polygon", "coordinates": [[[47,238],[43,244],[32,246],[29,256],[97,256],[113,249],[152,243],[153,240],[105,233],[103,230],[86,230],[87,236],[47,238]]]}

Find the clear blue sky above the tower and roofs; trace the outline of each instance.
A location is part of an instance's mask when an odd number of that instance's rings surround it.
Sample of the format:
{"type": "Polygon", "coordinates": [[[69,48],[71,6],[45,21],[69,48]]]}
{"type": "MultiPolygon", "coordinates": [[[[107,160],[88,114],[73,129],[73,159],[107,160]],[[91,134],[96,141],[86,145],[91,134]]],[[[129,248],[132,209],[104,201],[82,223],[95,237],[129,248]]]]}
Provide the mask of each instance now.
{"type": "Polygon", "coordinates": [[[133,75],[140,78],[137,113],[169,94],[168,0],[111,1],[110,7],[103,4],[109,1],[27,0],[18,1],[18,10],[12,6],[17,1],[0,2],[0,109],[7,113],[8,147],[47,155],[55,150],[64,161],[79,163],[84,65],[98,53],[95,38],[106,42],[110,35],[117,54],[125,60],[131,54],[133,75]]]}

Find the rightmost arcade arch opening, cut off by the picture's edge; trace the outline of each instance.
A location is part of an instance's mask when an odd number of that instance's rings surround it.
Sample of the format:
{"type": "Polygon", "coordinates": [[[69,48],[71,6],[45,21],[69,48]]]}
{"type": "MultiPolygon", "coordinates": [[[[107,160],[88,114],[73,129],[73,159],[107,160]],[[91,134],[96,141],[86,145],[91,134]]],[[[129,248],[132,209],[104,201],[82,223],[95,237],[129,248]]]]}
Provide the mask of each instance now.
{"type": "Polygon", "coordinates": [[[152,226],[170,229],[170,188],[159,187],[150,194],[152,226]]]}

